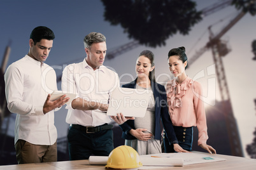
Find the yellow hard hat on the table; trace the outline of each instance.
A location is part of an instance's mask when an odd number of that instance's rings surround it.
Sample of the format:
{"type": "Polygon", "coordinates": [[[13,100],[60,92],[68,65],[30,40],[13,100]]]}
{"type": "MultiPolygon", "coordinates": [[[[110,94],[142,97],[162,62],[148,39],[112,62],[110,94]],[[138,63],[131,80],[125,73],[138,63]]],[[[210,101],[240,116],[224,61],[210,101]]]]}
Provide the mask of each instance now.
{"type": "Polygon", "coordinates": [[[142,163],[139,154],[134,148],[122,145],[113,149],[108,156],[106,167],[111,168],[136,168],[141,167],[142,163]]]}

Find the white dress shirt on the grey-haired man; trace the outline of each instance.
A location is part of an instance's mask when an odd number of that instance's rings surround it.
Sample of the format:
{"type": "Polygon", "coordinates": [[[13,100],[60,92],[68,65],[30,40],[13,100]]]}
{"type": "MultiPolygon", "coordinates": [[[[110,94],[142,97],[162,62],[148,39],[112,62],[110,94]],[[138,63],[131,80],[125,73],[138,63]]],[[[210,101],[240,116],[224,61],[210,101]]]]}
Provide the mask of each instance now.
{"type": "MultiPolygon", "coordinates": [[[[85,59],[83,62],[68,65],[62,72],[62,91],[75,93],[77,97],[87,101],[108,103],[111,92],[117,87],[119,78],[116,72],[105,66],[94,70],[85,59]]],[[[66,108],[68,124],[100,126],[111,121],[110,117],[100,110],[76,110],[71,104],[66,108]]]]}

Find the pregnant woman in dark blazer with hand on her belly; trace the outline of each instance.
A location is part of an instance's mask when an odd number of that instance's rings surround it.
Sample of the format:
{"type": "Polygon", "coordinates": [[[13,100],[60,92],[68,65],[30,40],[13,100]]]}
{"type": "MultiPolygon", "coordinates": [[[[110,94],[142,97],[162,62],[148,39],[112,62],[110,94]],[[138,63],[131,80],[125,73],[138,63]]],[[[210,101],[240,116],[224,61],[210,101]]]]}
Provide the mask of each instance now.
{"type": "Polygon", "coordinates": [[[187,152],[178,145],[173,125],[169,117],[166,99],[166,89],[155,82],[155,64],[152,51],[142,51],[136,62],[137,78],[122,85],[122,88],[136,88],[152,90],[152,98],[148,105],[145,117],[136,117],[134,120],[125,119],[124,115],[111,116],[122,128],[122,138],[125,145],[134,148],[139,155],[159,154],[162,152],[160,139],[162,129],[160,120],[164,126],[169,143],[174,144],[176,152],[187,152]]]}

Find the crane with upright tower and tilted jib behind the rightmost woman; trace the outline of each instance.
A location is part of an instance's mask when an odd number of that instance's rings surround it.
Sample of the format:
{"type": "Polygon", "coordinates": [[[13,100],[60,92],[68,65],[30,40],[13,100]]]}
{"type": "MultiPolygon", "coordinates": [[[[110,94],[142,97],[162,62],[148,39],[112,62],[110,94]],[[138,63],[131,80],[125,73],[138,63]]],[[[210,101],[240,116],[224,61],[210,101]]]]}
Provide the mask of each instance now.
{"type": "Polygon", "coordinates": [[[203,55],[205,51],[211,49],[213,60],[215,63],[215,70],[218,79],[218,86],[220,89],[220,96],[222,99],[223,111],[225,114],[225,124],[227,126],[227,134],[229,136],[229,143],[231,147],[232,155],[235,156],[243,156],[241,141],[239,138],[239,131],[236,125],[236,119],[234,118],[232,105],[231,105],[231,97],[229,93],[229,88],[227,86],[227,79],[225,76],[224,63],[222,62],[222,57],[227,55],[229,48],[227,48],[227,43],[222,41],[220,38],[224,36],[224,34],[232,28],[241,18],[245,16],[245,12],[241,11],[236,17],[234,17],[229,24],[227,24],[224,29],[222,29],[217,35],[214,35],[211,31],[211,26],[208,27],[210,32],[209,41],[206,45],[199,49],[197,53],[192,56],[188,63],[190,65],[195,62],[200,56],[203,55]]]}

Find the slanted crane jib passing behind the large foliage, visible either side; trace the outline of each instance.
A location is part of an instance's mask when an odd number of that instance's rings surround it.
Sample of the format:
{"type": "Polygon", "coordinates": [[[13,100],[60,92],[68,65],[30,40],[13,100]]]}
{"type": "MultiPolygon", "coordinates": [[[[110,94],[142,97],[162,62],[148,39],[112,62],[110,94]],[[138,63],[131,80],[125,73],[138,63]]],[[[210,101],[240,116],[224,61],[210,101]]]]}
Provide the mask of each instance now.
{"type": "MultiPolygon", "coordinates": [[[[212,13],[217,12],[218,10],[222,10],[223,8],[226,8],[227,6],[230,6],[231,3],[232,3],[232,0],[224,0],[224,1],[220,1],[218,3],[212,4],[211,6],[203,8],[203,10],[201,10],[201,12],[202,12],[201,15],[202,15],[202,17],[208,16],[212,13]]],[[[125,53],[128,50],[137,48],[138,46],[140,46],[139,41],[135,40],[135,41],[128,42],[127,44],[118,46],[117,48],[112,49],[111,51],[108,51],[106,58],[111,60],[118,55],[122,55],[123,53],[125,53]]]]}

